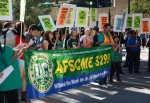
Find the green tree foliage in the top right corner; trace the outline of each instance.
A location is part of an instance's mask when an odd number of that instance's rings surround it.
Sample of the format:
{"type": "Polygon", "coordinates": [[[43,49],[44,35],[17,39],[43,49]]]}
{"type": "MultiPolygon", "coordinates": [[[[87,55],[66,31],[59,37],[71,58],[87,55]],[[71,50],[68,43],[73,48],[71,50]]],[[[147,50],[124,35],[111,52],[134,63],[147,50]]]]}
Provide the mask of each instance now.
{"type": "Polygon", "coordinates": [[[150,17],[150,0],[131,0],[131,13],[143,13],[150,17]]]}

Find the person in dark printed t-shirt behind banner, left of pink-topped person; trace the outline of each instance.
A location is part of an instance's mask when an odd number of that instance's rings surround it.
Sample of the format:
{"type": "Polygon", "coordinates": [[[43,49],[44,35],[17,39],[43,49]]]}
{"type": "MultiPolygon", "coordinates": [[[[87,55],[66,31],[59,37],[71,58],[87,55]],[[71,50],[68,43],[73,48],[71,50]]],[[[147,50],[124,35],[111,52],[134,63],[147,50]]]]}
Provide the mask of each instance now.
{"type": "Polygon", "coordinates": [[[67,42],[67,49],[70,49],[70,48],[74,48],[74,49],[80,48],[80,43],[79,43],[79,40],[77,39],[76,30],[71,31],[71,38],[67,42]]]}

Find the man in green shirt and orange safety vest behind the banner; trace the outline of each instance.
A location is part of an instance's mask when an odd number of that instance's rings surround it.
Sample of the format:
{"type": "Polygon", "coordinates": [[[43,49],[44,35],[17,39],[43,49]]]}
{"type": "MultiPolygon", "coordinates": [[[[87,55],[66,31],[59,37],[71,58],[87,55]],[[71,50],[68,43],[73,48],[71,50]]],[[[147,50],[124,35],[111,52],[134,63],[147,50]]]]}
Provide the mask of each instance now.
{"type": "MultiPolygon", "coordinates": [[[[114,45],[114,40],[112,36],[110,35],[110,32],[111,32],[111,25],[106,23],[104,25],[104,31],[98,35],[98,43],[100,43],[100,46],[103,46],[103,45],[113,46],[114,45]]],[[[107,77],[100,79],[99,85],[101,87],[108,88],[109,84],[107,84],[107,77]]]]}

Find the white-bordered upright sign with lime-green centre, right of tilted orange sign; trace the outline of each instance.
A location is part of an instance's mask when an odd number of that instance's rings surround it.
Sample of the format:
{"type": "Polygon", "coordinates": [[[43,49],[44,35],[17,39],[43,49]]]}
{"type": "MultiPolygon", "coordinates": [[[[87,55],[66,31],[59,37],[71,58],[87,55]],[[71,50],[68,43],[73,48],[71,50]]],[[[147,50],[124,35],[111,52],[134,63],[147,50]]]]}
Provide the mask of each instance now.
{"type": "Polygon", "coordinates": [[[75,20],[76,27],[87,27],[88,13],[89,13],[88,8],[77,7],[76,20],[75,20]]]}

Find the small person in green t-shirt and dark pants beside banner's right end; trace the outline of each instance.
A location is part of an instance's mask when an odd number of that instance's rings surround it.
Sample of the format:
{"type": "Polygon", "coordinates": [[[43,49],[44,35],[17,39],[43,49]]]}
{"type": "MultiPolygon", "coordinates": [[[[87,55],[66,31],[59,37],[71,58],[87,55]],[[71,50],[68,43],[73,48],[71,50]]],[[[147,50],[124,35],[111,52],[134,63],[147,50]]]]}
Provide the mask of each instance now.
{"type": "Polygon", "coordinates": [[[121,82],[120,79],[120,67],[121,67],[121,61],[122,61],[122,48],[120,47],[120,40],[118,36],[114,36],[114,43],[116,44],[113,46],[112,51],[112,63],[111,63],[111,70],[110,70],[110,82],[113,83],[113,76],[116,72],[116,79],[118,82],[121,82]]]}

